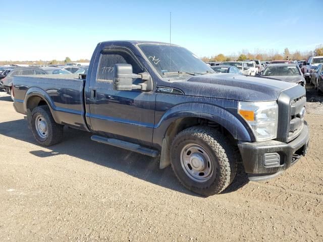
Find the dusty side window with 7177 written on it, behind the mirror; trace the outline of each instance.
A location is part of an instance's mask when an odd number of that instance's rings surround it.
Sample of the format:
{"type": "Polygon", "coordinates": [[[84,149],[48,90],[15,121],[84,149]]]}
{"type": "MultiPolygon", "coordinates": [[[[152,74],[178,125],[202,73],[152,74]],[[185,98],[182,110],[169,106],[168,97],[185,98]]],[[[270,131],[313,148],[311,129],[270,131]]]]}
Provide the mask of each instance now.
{"type": "Polygon", "coordinates": [[[113,71],[116,64],[132,65],[135,74],[143,72],[143,68],[135,61],[132,54],[126,50],[103,50],[97,70],[98,81],[113,81],[113,71]]]}

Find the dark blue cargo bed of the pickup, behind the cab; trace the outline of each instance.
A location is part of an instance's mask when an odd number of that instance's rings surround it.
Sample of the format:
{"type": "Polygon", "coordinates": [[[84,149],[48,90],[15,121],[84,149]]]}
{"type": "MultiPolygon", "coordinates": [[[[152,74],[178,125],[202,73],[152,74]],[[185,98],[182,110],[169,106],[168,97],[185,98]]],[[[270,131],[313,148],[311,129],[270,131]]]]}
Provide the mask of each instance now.
{"type": "MultiPolygon", "coordinates": [[[[85,122],[84,85],[78,74],[30,75],[14,77],[15,105],[18,112],[27,113],[29,96],[41,97],[52,110],[58,124],[87,130],[85,122]]],[[[38,101],[38,99],[36,99],[38,101]]]]}

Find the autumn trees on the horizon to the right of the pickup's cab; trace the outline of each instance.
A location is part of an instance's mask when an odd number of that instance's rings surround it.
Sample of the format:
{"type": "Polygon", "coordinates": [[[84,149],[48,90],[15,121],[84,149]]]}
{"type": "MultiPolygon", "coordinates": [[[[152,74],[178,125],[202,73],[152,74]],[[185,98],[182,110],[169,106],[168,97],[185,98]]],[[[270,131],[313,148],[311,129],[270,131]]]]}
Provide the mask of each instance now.
{"type": "Polygon", "coordinates": [[[310,51],[289,51],[286,47],[283,53],[279,53],[278,50],[260,50],[255,49],[253,53],[246,49],[243,49],[238,54],[224,55],[222,53],[213,56],[203,56],[201,59],[204,62],[228,62],[228,61],[245,61],[247,59],[260,59],[260,61],[274,61],[276,59],[286,59],[290,61],[307,60],[310,56],[322,56],[323,44],[315,47],[310,51]]]}

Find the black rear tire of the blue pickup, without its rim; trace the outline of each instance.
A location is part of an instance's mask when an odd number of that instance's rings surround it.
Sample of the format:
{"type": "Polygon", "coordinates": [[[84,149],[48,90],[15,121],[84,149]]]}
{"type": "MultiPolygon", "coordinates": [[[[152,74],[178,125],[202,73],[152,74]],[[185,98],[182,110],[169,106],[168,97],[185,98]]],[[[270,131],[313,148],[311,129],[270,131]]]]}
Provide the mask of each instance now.
{"type": "Polygon", "coordinates": [[[36,141],[42,146],[51,146],[60,143],[63,139],[63,125],[59,125],[53,119],[48,106],[38,106],[32,110],[29,126],[36,141]],[[41,137],[36,128],[36,118],[43,117],[46,123],[46,136],[41,137]]]}

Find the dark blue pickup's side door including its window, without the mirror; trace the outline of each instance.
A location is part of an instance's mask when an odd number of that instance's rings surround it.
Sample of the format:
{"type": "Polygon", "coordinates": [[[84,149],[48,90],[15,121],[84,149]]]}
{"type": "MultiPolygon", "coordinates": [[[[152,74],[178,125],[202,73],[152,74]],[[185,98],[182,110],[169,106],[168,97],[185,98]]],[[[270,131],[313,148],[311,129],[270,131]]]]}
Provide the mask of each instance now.
{"type": "Polygon", "coordinates": [[[91,129],[102,136],[150,146],[156,94],[154,90],[114,90],[113,70],[116,64],[132,65],[133,73],[136,74],[145,71],[128,48],[110,47],[102,50],[97,75],[92,75],[89,90],[90,113],[87,115],[90,117],[91,129]]]}

